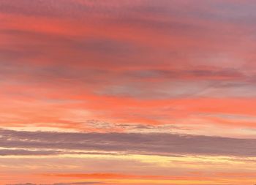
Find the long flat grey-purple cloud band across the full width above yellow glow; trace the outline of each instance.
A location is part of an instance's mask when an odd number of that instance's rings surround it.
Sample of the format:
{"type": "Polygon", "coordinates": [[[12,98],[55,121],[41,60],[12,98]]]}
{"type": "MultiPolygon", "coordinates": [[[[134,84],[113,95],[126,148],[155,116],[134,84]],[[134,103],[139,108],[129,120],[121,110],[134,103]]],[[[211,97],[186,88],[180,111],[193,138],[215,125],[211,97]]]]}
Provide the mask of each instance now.
{"type": "Polygon", "coordinates": [[[256,156],[255,139],[165,133],[20,132],[1,129],[0,146],[156,155],[256,156]]]}

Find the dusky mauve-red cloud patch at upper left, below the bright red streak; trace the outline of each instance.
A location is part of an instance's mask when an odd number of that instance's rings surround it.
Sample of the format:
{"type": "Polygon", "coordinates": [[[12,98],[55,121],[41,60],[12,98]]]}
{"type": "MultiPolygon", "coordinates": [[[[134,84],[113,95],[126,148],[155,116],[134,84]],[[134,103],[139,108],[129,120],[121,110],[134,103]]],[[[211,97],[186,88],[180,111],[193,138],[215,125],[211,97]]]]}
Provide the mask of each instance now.
{"type": "Polygon", "coordinates": [[[107,62],[111,61],[111,64],[117,65],[120,62],[122,64],[128,61],[132,62],[132,58],[138,54],[143,56],[147,54],[145,51],[141,52],[143,48],[131,44],[131,42],[118,41],[108,37],[95,37],[95,35],[72,37],[15,29],[1,29],[0,34],[3,34],[12,43],[12,47],[4,45],[0,48],[3,61],[19,60],[27,63],[28,58],[43,57],[48,61],[58,59],[58,64],[69,64],[71,61],[72,63],[86,61],[87,64],[89,61],[101,63],[105,58],[107,62]],[[20,50],[20,43],[22,43],[22,50],[20,50]],[[62,50],[64,55],[55,52],[56,48],[62,50]]]}

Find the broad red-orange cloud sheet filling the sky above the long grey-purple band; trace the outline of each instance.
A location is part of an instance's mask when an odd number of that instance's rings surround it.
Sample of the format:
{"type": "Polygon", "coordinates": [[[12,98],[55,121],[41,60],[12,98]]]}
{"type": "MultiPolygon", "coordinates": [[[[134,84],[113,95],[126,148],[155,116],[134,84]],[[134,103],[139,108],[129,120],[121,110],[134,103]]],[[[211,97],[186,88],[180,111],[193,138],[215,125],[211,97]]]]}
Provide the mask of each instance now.
{"type": "Polygon", "coordinates": [[[196,2],[0,1],[1,124],[252,129],[198,116],[255,114],[252,1],[196,2]]]}

